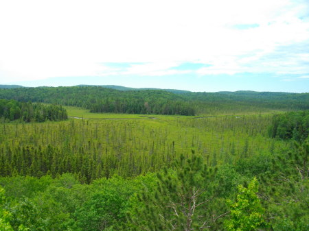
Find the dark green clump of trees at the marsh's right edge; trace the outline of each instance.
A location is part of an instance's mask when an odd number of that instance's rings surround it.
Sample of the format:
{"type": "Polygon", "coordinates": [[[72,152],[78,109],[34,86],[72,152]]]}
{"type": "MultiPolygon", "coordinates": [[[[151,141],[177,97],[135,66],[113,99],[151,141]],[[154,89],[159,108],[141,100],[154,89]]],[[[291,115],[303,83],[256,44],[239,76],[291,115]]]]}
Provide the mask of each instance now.
{"type": "Polygon", "coordinates": [[[309,110],[274,115],[269,134],[273,138],[304,141],[309,134],[309,110]]]}

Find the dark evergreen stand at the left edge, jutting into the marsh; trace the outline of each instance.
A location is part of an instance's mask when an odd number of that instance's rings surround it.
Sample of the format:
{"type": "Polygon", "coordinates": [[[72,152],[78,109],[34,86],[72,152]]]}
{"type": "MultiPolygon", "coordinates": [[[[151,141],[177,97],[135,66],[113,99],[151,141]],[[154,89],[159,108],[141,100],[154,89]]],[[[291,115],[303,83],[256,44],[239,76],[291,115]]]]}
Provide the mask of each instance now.
{"type": "Polygon", "coordinates": [[[60,105],[32,104],[14,99],[0,99],[0,118],[25,122],[61,121],[67,119],[67,111],[60,105]]]}

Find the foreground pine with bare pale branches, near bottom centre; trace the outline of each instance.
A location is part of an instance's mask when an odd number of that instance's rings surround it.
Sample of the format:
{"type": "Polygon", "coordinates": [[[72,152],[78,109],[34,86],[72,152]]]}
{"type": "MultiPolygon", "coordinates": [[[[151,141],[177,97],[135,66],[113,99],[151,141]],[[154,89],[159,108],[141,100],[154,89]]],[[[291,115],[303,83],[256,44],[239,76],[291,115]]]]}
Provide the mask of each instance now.
{"type": "Polygon", "coordinates": [[[175,168],[157,175],[154,193],[145,191],[139,197],[142,206],[130,214],[133,230],[205,230],[220,217],[209,209],[216,171],[197,156],[181,156],[175,168]]]}

